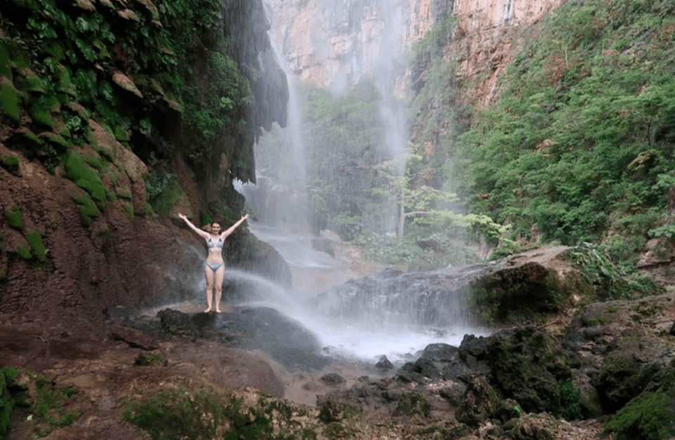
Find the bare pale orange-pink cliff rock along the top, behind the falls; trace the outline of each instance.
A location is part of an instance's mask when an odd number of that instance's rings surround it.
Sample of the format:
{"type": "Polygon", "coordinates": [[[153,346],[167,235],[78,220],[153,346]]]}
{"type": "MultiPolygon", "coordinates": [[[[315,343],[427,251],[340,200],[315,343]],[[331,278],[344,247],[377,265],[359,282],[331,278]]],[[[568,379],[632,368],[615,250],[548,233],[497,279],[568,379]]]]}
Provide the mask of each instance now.
{"type": "Polygon", "coordinates": [[[459,76],[476,80],[470,98],[484,105],[525,27],[563,0],[270,0],[271,37],[289,72],[316,86],[343,86],[388,68],[397,93],[407,86],[406,51],[451,16],[457,31],[446,55],[459,76]]]}

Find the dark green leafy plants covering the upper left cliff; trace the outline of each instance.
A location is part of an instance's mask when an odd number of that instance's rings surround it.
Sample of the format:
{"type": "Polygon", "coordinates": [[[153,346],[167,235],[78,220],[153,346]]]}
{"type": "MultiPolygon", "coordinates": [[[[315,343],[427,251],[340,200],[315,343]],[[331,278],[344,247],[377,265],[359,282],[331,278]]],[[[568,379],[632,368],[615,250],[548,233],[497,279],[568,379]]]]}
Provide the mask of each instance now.
{"type": "MultiPolygon", "coordinates": [[[[68,170],[72,151],[98,149],[91,121],[152,167],[150,201],[174,191],[168,164],[176,157],[191,167],[199,189],[250,179],[250,146],[259,127],[247,117],[260,97],[235,58],[243,55],[233,54],[226,38],[232,32],[226,13],[232,15],[215,0],[6,2],[0,15],[3,142],[51,173],[65,164],[68,178],[89,182],[83,188],[103,209],[96,175],[115,158],[103,154],[102,163],[80,166],[89,179],[68,170]]],[[[256,74],[255,66],[246,67],[256,74]]]]}

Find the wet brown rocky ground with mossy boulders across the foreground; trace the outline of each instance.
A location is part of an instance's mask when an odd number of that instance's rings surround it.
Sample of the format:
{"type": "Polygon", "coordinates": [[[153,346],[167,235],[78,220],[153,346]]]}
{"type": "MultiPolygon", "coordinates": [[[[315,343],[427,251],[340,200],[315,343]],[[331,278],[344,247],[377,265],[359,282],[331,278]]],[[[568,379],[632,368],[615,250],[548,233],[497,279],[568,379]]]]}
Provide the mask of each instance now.
{"type": "MultiPolygon", "coordinates": [[[[561,252],[506,266],[569,275],[553,257],[561,252]]],[[[504,280],[492,271],[483,285],[495,276],[504,280]]],[[[675,293],[589,301],[580,292],[538,322],[430,345],[398,366],[330,359],[264,308],[110,310],[102,338],[45,332],[39,321],[1,326],[6,438],[591,439],[636,401],[662,411],[664,430],[638,428],[653,424],[645,415],[605,438],[671,438],[675,293]],[[290,335],[304,349],[284,347],[290,335]]]]}

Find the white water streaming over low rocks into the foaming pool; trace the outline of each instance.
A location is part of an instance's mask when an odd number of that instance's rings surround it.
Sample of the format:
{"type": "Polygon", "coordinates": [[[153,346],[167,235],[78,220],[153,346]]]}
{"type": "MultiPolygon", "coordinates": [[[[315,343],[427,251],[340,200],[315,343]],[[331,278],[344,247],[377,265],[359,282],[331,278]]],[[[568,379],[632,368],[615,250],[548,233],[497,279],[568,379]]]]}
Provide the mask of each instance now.
{"type": "Polygon", "coordinates": [[[419,326],[412,319],[401,319],[406,311],[401,311],[394,319],[390,319],[384,310],[380,316],[366,316],[365,319],[354,319],[348,313],[342,314],[341,318],[326,316],[321,309],[311,305],[312,297],[383,267],[366,262],[357,250],[338,240],[333,241],[333,256],[316,251],[311,247],[311,237],[297,232],[266,227],[257,222],[251,222],[250,229],[252,234],[276,248],[288,262],[293,273],[293,288],[285,290],[250,274],[231,272],[229,275],[255,280],[259,291],[265,293],[249,301],[248,305],[274,307],[300,322],[319,338],[328,354],[368,362],[376,362],[385,355],[397,364],[431,343],[459,345],[466,333],[484,333],[484,330],[463,322],[450,328],[419,326]],[[366,272],[359,273],[359,270],[366,272]]]}

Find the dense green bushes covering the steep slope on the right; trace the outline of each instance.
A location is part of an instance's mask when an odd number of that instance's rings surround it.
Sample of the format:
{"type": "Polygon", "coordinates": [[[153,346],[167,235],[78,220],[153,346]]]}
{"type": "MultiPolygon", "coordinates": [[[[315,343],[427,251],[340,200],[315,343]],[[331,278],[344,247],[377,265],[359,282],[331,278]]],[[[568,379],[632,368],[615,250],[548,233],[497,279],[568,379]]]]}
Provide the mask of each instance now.
{"type": "Polygon", "coordinates": [[[472,211],[624,260],[675,236],[674,8],[570,0],[539,23],[454,145],[446,179],[472,211]]]}

